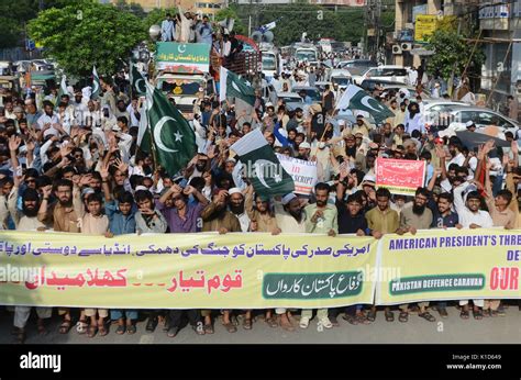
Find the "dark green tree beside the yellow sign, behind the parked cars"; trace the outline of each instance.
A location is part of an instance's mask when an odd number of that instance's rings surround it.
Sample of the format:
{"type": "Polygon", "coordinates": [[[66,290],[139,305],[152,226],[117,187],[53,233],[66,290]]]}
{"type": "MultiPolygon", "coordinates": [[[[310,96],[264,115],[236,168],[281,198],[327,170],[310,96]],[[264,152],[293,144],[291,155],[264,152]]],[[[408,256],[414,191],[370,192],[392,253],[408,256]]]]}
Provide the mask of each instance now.
{"type": "Polygon", "coordinates": [[[436,30],[426,46],[435,54],[429,59],[428,70],[439,72],[443,78],[448,79],[455,67],[455,75],[461,76],[465,70],[465,65],[472,56],[468,74],[479,74],[485,62],[485,54],[480,46],[473,53],[474,43],[466,42],[465,37],[454,29],[444,27],[436,30]]]}

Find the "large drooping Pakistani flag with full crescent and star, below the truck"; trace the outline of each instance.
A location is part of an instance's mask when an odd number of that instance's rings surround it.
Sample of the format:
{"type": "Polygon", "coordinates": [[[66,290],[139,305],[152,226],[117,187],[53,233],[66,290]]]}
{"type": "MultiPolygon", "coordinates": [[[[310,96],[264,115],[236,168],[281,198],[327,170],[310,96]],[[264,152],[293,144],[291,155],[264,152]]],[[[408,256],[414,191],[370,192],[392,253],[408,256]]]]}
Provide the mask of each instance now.
{"type": "MultiPolygon", "coordinates": [[[[196,155],[196,134],[177,108],[149,83],[146,83],[146,116],[157,164],[173,176],[196,155]]],[[[141,146],[146,139],[145,133],[141,146]]]]}

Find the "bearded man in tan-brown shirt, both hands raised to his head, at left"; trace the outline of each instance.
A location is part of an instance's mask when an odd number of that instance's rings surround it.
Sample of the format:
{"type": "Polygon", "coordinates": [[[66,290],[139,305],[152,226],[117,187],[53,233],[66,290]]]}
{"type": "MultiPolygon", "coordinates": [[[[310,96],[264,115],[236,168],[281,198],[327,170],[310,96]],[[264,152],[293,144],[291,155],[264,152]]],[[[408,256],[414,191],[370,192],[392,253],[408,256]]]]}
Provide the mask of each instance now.
{"type": "MultiPolygon", "coordinates": [[[[86,183],[85,178],[80,180],[80,183],[86,183]]],[[[40,222],[52,221],[54,231],[56,232],[79,233],[79,220],[84,217],[85,214],[79,188],[67,179],[55,181],[54,194],[58,199],[58,202],[54,204],[54,208],[48,204],[52,188],[46,186],[42,191],[43,199],[37,220],[40,222]]],[[[58,308],[58,314],[64,318],[59,326],[59,333],[67,334],[71,327],[70,309],[58,308]]]]}

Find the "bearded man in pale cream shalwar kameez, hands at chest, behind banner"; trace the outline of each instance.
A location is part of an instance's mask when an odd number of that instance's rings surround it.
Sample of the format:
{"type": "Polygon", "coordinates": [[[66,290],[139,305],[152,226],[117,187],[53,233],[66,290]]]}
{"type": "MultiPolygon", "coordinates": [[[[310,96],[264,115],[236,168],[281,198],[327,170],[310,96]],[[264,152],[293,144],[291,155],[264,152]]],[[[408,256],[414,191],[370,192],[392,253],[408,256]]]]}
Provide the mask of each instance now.
{"type": "MultiPolygon", "coordinates": [[[[337,211],[332,204],[328,204],[330,186],[319,182],[314,187],[317,203],[306,206],[306,232],[309,234],[328,234],[335,236],[339,233],[337,211]]],[[[308,328],[312,316],[312,310],[302,310],[300,328],[308,328]]],[[[319,309],[317,312],[318,323],[324,328],[332,328],[333,324],[328,317],[328,309],[319,309]]]]}

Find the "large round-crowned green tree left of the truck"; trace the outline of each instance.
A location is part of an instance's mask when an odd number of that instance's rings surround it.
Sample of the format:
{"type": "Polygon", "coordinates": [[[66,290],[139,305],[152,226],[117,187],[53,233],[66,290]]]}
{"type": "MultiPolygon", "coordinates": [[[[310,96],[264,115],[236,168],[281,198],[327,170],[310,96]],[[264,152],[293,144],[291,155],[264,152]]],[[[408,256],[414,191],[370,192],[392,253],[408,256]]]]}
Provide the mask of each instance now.
{"type": "Polygon", "coordinates": [[[56,59],[67,75],[88,76],[96,65],[112,75],[132,48],[147,38],[140,19],[111,4],[74,2],[47,9],[27,25],[32,40],[56,59]]]}

